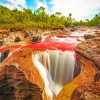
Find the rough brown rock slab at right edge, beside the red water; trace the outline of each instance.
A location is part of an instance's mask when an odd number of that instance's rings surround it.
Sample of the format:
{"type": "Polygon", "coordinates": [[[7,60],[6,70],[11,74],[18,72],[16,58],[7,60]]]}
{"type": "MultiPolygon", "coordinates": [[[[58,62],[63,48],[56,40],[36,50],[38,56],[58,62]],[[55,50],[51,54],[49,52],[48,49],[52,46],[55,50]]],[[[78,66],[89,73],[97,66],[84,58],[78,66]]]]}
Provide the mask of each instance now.
{"type": "Polygon", "coordinates": [[[94,38],[78,44],[75,51],[92,60],[100,69],[100,38],[94,38]]]}

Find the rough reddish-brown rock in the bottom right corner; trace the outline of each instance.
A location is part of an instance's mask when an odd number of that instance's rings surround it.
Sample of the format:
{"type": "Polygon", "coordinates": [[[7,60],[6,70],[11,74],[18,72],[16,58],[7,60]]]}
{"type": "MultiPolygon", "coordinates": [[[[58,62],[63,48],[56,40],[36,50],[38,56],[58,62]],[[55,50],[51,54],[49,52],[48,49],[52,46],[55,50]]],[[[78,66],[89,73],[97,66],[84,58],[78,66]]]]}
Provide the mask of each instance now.
{"type": "Polygon", "coordinates": [[[73,92],[71,100],[100,100],[100,82],[79,86],[73,92]]]}

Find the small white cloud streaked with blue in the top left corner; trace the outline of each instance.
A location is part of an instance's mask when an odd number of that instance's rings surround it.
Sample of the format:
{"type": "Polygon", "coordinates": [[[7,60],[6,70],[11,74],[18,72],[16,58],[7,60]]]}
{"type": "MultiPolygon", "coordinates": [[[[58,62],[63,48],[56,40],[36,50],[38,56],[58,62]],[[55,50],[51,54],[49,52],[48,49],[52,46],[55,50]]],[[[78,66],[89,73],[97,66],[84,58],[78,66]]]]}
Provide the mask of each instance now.
{"type": "Polygon", "coordinates": [[[17,8],[21,10],[22,8],[27,8],[26,0],[2,0],[0,4],[10,9],[17,8]]]}

